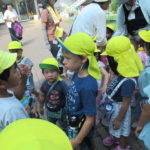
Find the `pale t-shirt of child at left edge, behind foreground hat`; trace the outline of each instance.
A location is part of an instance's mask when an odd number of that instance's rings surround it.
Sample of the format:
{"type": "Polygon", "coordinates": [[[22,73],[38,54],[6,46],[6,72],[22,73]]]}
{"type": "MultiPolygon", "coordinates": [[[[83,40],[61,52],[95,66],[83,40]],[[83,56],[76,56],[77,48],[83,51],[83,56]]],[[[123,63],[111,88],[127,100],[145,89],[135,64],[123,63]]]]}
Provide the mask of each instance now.
{"type": "Polygon", "coordinates": [[[0,132],[10,123],[29,118],[23,105],[14,96],[12,91],[8,91],[12,97],[0,98],[0,132]]]}

